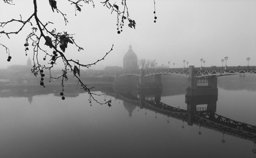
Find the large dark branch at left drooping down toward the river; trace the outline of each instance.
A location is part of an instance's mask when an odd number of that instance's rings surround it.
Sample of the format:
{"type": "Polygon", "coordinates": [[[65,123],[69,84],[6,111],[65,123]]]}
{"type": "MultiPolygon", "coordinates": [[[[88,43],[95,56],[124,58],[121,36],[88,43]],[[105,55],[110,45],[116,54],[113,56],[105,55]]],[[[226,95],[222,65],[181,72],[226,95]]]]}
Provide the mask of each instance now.
{"type": "MultiPolygon", "coordinates": [[[[10,3],[12,1],[8,1],[8,0],[4,0],[4,2],[6,3],[10,3]]],[[[47,27],[49,24],[53,24],[52,22],[46,22],[45,24],[43,22],[41,22],[41,20],[38,18],[38,5],[36,3],[37,1],[34,0],[34,13],[31,14],[31,16],[27,19],[27,20],[22,20],[22,16],[20,15],[20,19],[11,19],[7,22],[0,22],[0,27],[5,28],[8,24],[10,23],[14,23],[14,22],[18,22],[21,23],[22,26],[19,28],[18,31],[12,31],[12,32],[5,32],[4,30],[0,32],[0,34],[4,34],[6,35],[8,38],[10,34],[19,34],[20,31],[22,31],[22,29],[24,28],[24,26],[26,26],[26,24],[30,24],[32,26],[32,31],[30,32],[30,34],[27,35],[27,38],[25,40],[25,52],[27,55],[27,51],[29,50],[28,46],[31,44],[31,46],[33,47],[33,68],[31,69],[31,72],[34,73],[35,76],[41,76],[41,81],[40,81],[40,85],[44,86],[44,70],[49,70],[50,72],[50,81],[51,78],[62,78],[61,79],[61,86],[62,86],[62,92],[60,93],[60,95],[64,95],[63,91],[64,91],[64,81],[68,80],[67,77],[67,73],[70,70],[71,72],[74,72],[74,77],[77,78],[77,80],[79,81],[78,83],[81,85],[81,88],[84,89],[86,92],[88,92],[88,94],[90,95],[90,99],[93,99],[94,101],[96,101],[97,103],[100,103],[97,101],[97,99],[95,99],[93,97],[93,95],[99,95],[99,94],[94,94],[90,92],[90,89],[92,88],[88,88],[81,80],[80,80],[80,74],[77,75],[77,71],[80,72],[80,66],[89,68],[92,65],[96,65],[98,62],[100,62],[101,60],[104,60],[105,57],[113,50],[113,45],[112,48],[110,49],[109,52],[107,52],[101,59],[95,61],[94,63],[91,64],[82,64],[79,63],[78,60],[73,60],[73,59],[67,59],[67,57],[64,55],[65,50],[67,49],[67,45],[69,44],[74,44],[78,50],[77,51],[81,51],[83,50],[82,47],[80,47],[79,45],[76,44],[75,39],[73,38],[72,34],[68,34],[67,32],[56,32],[56,28],[52,31],[48,30],[47,27]],[[33,23],[30,22],[31,19],[35,20],[36,23],[36,27],[33,27],[33,23]],[[43,41],[45,41],[44,45],[47,45],[47,47],[52,49],[52,53],[49,53],[48,51],[46,51],[45,49],[40,47],[40,43],[42,43],[42,39],[44,39],[43,41]],[[50,57],[49,59],[49,66],[46,65],[41,65],[39,62],[39,54],[44,53],[44,58],[43,60],[46,60],[48,57],[50,57]],[[60,75],[59,77],[52,77],[51,76],[51,69],[53,68],[53,66],[56,65],[56,60],[62,60],[63,64],[64,64],[64,69],[63,74],[60,75]],[[79,69],[77,68],[77,66],[72,66],[73,64],[76,64],[79,66],[79,69]],[[76,72],[76,73],[75,73],[76,72]]],[[[80,7],[82,6],[80,4],[80,2],[84,2],[84,3],[92,3],[94,6],[94,3],[92,0],[78,0],[76,2],[74,1],[69,1],[71,2],[71,5],[75,5],[76,10],[81,11],[80,7]]],[[[49,0],[49,5],[52,7],[52,11],[54,12],[56,10],[57,13],[60,13],[65,21],[65,24],[68,23],[68,19],[66,18],[66,14],[62,13],[59,9],[57,9],[57,2],[55,0],[49,0]]],[[[6,48],[6,52],[10,53],[9,49],[1,44],[3,47],[6,48]]],[[[10,61],[11,57],[9,55],[8,57],[8,61],[10,61]]],[[[65,99],[65,97],[62,97],[63,99],[65,99]]],[[[91,101],[90,101],[91,103],[91,101]]],[[[100,103],[102,104],[106,104],[107,102],[104,103],[100,103]]]]}

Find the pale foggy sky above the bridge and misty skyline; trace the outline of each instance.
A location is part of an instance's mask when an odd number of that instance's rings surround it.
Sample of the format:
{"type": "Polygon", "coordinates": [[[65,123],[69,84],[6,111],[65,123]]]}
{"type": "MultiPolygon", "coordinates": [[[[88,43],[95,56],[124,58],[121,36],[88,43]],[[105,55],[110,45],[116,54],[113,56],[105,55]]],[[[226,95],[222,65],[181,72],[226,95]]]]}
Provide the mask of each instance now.
{"type": "MultiPolygon", "coordinates": [[[[38,0],[39,1],[39,0],[38,0]]],[[[94,1],[96,7],[83,4],[81,13],[75,16],[75,7],[64,0],[57,1],[57,7],[67,14],[69,23],[65,26],[61,14],[52,12],[48,1],[38,2],[38,15],[45,22],[54,24],[50,28],[56,31],[68,31],[75,34],[76,43],[84,48],[68,44],[65,55],[79,59],[84,63],[93,63],[100,59],[114,44],[113,51],[97,66],[122,66],[123,55],[129,45],[138,59],[155,59],[158,65],[175,63],[183,67],[183,60],[189,65],[200,66],[203,58],[205,66],[221,66],[221,59],[228,56],[227,65],[256,65],[256,1],[255,0],[155,0],[156,16],[154,23],[154,1],[127,1],[129,15],[137,23],[136,29],[125,27],[117,34],[116,14],[94,1]]],[[[119,1],[111,1],[111,3],[119,1]]],[[[27,19],[33,11],[32,1],[14,0],[15,6],[0,0],[0,21],[11,18],[27,19]]],[[[119,5],[119,8],[121,6],[119,5]]],[[[17,26],[15,24],[15,26],[17,26]]],[[[34,26],[36,27],[36,26],[34,26]]],[[[6,31],[14,28],[9,26],[6,31]]],[[[0,28],[0,31],[2,28],[0,28]]],[[[31,26],[25,27],[20,35],[11,35],[11,39],[1,35],[0,43],[10,48],[11,62],[7,62],[5,49],[0,47],[0,68],[13,64],[26,64],[28,56],[32,59],[32,47],[25,56],[24,43],[31,32],[31,26]]],[[[44,41],[42,41],[44,44],[44,41]]],[[[47,46],[44,48],[47,49],[47,46]]],[[[48,49],[49,50],[49,49],[48,49]]],[[[49,50],[50,51],[50,50],[49,50]]],[[[42,57],[43,59],[43,57],[42,57]]],[[[225,65],[225,62],[224,62],[225,65]]],[[[61,66],[61,65],[57,65],[61,66]]]]}

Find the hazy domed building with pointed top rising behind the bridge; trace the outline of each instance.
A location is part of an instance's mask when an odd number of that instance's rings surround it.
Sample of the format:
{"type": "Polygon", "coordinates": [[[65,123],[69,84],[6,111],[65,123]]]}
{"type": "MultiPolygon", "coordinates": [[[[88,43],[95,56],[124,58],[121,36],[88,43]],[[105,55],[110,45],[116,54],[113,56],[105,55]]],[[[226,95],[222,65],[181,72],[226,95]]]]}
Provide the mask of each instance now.
{"type": "Polygon", "coordinates": [[[133,49],[131,49],[131,45],[129,46],[128,52],[123,56],[123,69],[138,69],[138,58],[133,52],[133,49]]]}

